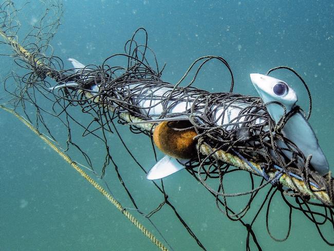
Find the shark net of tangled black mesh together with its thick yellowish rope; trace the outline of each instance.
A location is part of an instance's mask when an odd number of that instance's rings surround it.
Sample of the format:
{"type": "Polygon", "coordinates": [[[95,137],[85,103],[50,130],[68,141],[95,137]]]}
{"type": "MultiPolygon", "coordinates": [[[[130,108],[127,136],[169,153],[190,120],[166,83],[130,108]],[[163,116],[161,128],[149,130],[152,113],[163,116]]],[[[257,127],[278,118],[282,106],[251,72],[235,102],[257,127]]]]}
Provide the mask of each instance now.
{"type": "MultiPolygon", "coordinates": [[[[164,67],[159,68],[153,50],[147,45],[147,33],[143,28],[138,29],[125,43],[123,53],[108,57],[101,65],[66,69],[62,59],[53,56],[50,46],[60,24],[63,12],[61,3],[52,2],[39,25],[28,35],[20,34],[21,25],[17,21],[17,9],[13,3],[5,1],[0,7],[2,44],[11,46],[10,56],[20,66],[4,83],[11,97],[7,106],[11,105],[56,142],[61,139],[53,136],[47,120],[51,117],[60,121],[66,128],[64,151],[79,151],[87,168],[99,176],[100,182],[106,187],[108,183],[104,176],[108,172],[115,172],[131,200],[131,207],[138,212],[144,210],[139,208],[123,181],[119,171],[122,167],[114,160],[110,150],[113,142],[108,134],[116,134],[120,138],[123,151],[127,152],[146,174],[148,170],[140,164],[122,139],[118,124],[129,128],[134,134],[149,137],[155,153],[152,135],[156,123],[144,121],[182,116],[188,118],[187,122],[174,130],[191,129],[196,133],[194,154],[183,165],[190,175],[212,194],[212,203],[216,204],[217,210],[228,219],[245,226],[247,250],[251,246],[261,249],[261,242],[255,235],[253,225],[262,211],[266,212],[267,231],[276,241],[284,241],[289,237],[292,211],[298,210],[305,215],[305,220],[314,223],[324,242],[334,245],[332,234],[322,231],[322,227],[328,229],[328,225],[330,231],[334,228],[333,178],[330,173],[321,176],[313,171],[310,156],[304,156],[282,133],[289,118],[301,111],[299,106],[286,112],[276,124],[261,98],[233,93],[232,70],[221,57],[199,58],[178,83],[164,82],[164,67]],[[138,41],[138,34],[144,37],[143,43],[138,41]],[[18,40],[18,35],[24,39],[18,40]],[[231,75],[230,92],[210,93],[194,87],[202,67],[212,60],[227,67],[231,75]],[[115,61],[122,62],[121,66],[115,66],[115,61]],[[173,112],[180,103],[184,106],[183,111],[173,112]],[[162,109],[159,114],[156,113],[157,107],[162,109]],[[238,114],[227,121],[226,114],[229,109],[237,110],[238,114]],[[31,110],[35,116],[31,116],[31,110]],[[78,119],[78,111],[87,116],[78,119]],[[73,124],[79,125],[83,137],[96,137],[103,143],[101,146],[104,148],[105,157],[101,168],[94,165],[89,152],[76,141],[73,124]],[[283,141],[286,148],[277,144],[279,141],[283,141]],[[291,158],[286,157],[286,151],[291,153],[291,158]],[[248,191],[228,192],[231,190],[230,180],[235,180],[238,173],[245,171],[248,172],[248,191]],[[281,239],[271,234],[268,224],[270,205],[275,194],[279,194],[280,200],[289,208],[288,230],[281,239]],[[242,203],[231,202],[231,198],[237,198],[236,200],[242,203]],[[255,198],[257,203],[253,205],[255,198]],[[259,201],[261,203],[258,203],[259,201]],[[253,210],[250,210],[251,207],[253,210]]],[[[159,214],[162,208],[169,207],[198,246],[206,249],[196,236],[196,230],[191,229],[181,217],[177,205],[171,202],[164,189],[163,180],[146,182],[154,184],[161,193],[162,202],[158,202],[150,213],[141,215],[150,220],[153,215],[159,214]]],[[[151,223],[155,227],[152,221],[151,223]]],[[[163,235],[161,236],[163,238],[163,235]]],[[[168,240],[164,241],[169,245],[168,240]]],[[[173,249],[170,245],[169,248],[173,249]]]]}

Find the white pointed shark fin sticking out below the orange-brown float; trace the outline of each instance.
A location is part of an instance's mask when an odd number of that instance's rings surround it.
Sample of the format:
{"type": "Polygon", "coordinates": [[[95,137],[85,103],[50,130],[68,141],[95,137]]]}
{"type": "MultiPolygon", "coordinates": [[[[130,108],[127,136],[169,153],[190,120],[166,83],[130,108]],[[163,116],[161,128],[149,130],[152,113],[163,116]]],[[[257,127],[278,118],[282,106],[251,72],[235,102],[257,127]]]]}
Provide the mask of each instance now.
{"type": "MultiPolygon", "coordinates": [[[[188,160],[181,161],[182,163],[188,162],[188,160]]],[[[165,155],[160,159],[154,167],[147,173],[147,180],[158,180],[164,178],[177,171],[184,169],[185,167],[177,162],[177,160],[171,156],[165,155]]]]}

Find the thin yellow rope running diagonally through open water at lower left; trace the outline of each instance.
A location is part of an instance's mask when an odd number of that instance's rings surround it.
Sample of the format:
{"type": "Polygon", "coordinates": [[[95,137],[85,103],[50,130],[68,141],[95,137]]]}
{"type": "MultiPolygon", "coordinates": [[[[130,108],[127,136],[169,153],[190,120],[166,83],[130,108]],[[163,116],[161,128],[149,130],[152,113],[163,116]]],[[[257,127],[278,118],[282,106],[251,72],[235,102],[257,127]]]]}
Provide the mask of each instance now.
{"type": "Polygon", "coordinates": [[[105,198],[111,202],[118,210],[120,210],[124,216],[131,221],[142,233],[149,238],[158,248],[161,250],[168,250],[149,230],[147,230],[131,213],[125,210],[125,208],[106,190],[104,190],[96,181],[94,181],[87,173],[85,173],[75,162],[71,160],[64,152],[62,152],[57,146],[55,146],[46,136],[40,133],[36,128],[32,126],[27,120],[25,120],[20,114],[16,113],[14,110],[9,109],[3,105],[0,105],[0,108],[13,114],[18,118],[22,123],[24,123],[31,131],[37,134],[41,139],[46,142],[55,152],[57,152],[68,164],[71,165],[77,172],[81,174],[92,186],[94,186],[100,193],[102,193],[105,198]]]}

